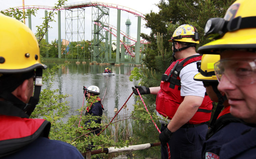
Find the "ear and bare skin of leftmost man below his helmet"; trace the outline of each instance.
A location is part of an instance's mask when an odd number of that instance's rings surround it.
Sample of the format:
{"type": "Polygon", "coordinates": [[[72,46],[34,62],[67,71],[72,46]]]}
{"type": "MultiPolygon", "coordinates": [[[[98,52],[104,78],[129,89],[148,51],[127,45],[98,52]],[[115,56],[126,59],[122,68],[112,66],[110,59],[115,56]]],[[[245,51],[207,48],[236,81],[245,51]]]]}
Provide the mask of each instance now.
{"type": "Polygon", "coordinates": [[[23,83],[12,92],[14,96],[19,98],[24,103],[28,100],[28,96],[26,93],[26,90],[28,88],[28,82],[28,80],[23,81],[23,83]]]}

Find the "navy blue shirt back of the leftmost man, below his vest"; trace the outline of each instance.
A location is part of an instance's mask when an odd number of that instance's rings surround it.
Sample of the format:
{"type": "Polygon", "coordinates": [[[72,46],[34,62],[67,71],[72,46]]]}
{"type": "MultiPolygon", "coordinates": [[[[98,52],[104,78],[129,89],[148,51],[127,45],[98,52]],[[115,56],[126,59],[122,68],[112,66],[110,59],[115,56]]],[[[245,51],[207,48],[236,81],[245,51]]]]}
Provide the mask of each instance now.
{"type": "Polygon", "coordinates": [[[39,137],[22,150],[3,157],[4,159],[84,159],[72,145],[62,141],[39,137]]]}

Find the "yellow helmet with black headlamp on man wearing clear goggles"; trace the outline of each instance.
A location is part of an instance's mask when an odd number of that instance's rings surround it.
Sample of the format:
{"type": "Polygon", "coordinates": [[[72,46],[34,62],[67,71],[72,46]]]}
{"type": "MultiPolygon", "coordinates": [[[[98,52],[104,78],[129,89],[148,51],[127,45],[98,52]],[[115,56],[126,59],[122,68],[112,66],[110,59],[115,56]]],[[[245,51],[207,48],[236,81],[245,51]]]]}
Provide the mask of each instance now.
{"type": "Polygon", "coordinates": [[[198,52],[219,54],[223,49],[255,49],[255,6],[255,0],[237,0],[228,8],[224,18],[208,19],[204,36],[215,41],[199,47],[198,52]]]}

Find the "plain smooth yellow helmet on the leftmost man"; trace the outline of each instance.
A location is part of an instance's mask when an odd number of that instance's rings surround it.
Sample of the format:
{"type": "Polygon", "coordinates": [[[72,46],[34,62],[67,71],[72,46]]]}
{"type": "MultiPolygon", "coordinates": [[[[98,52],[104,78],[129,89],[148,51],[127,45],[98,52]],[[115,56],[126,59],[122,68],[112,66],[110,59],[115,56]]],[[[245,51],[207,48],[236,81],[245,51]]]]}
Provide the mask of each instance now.
{"type": "Polygon", "coordinates": [[[22,22],[0,13],[0,73],[22,73],[35,68],[45,69],[40,63],[36,37],[22,22]]]}

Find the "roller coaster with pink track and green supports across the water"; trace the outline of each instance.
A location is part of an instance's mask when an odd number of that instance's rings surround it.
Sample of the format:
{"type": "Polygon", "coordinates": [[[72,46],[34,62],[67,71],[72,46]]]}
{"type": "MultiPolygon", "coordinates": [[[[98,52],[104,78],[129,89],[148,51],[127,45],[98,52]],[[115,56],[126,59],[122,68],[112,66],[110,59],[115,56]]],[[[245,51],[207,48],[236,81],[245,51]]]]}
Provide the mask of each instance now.
{"type": "MultiPolygon", "coordinates": [[[[100,62],[100,63],[108,63],[111,62],[111,35],[117,38],[117,46],[123,46],[126,49],[126,52],[129,54],[129,58],[135,57],[135,64],[140,65],[139,53],[141,51],[140,44],[149,44],[150,42],[140,39],[140,23],[141,18],[145,20],[145,15],[133,10],[131,8],[120,6],[116,4],[102,3],[102,2],[77,2],[67,4],[60,9],[58,9],[58,42],[59,42],[59,58],[61,58],[61,36],[60,36],[60,10],[65,10],[65,40],[72,42],[79,42],[77,45],[84,47],[85,42],[85,8],[92,7],[92,57],[91,62],[100,62]],[[109,8],[117,9],[117,27],[109,24],[109,8]],[[126,21],[126,33],[120,30],[120,11],[126,11],[138,17],[137,24],[137,39],[132,38],[130,36],[130,25],[131,22],[129,19],[126,21]],[[120,34],[123,37],[120,37],[120,34]],[[119,40],[118,40],[119,39],[119,40]],[[131,42],[132,41],[132,42],[131,42]],[[140,43],[137,43],[139,41],[140,43]],[[120,45],[121,43],[121,45],[120,45]],[[132,51],[132,46],[135,45],[135,54],[132,51]],[[105,56],[102,56],[105,54],[105,56]]],[[[14,7],[14,9],[30,9],[30,8],[38,8],[45,10],[45,16],[47,16],[47,10],[54,10],[53,7],[50,6],[41,6],[41,5],[33,5],[33,6],[19,6],[14,7]]],[[[6,9],[5,11],[10,11],[11,9],[6,9]]],[[[31,29],[31,18],[29,18],[29,26],[31,29]]],[[[48,34],[46,33],[45,37],[46,42],[48,42],[48,34]]],[[[66,46],[67,47],[67,46],[66,46]]],[[[124,49],[121,48],[121,61],[120,57],[120,47],[116,49],[116,61],[115,65],[120,65],[120,62],[124,61],[124,49]]],[[[71,47],[72,48],[72,47],[71,47]]],[[[76,48],[69,48],[67,50],[75,50],[76,48]]],[[[80,57],[82,56],[81,53],[80,57]]],[[[67,53],[65,54],[67,55],[67,53]]],[[[79,58],[80,58],[79,57],[79,58]]],[[[141,58],[143,56],[141,55],[141,58]]],[[[67,58],[67,57],[66,57],[67,58]]],[[[78,60],[78,59],[77,59],[78,60]]]]}

